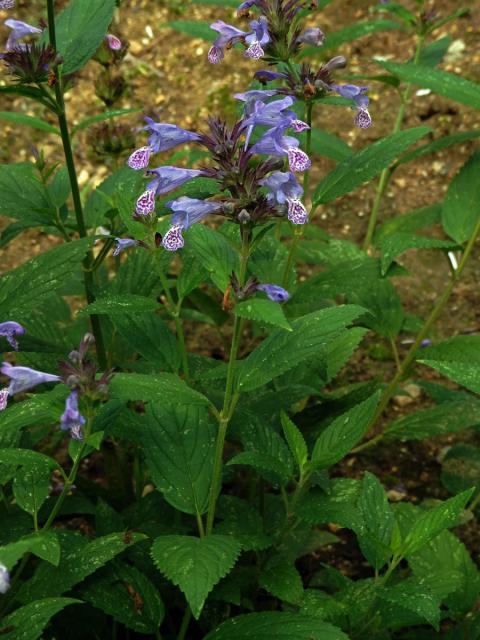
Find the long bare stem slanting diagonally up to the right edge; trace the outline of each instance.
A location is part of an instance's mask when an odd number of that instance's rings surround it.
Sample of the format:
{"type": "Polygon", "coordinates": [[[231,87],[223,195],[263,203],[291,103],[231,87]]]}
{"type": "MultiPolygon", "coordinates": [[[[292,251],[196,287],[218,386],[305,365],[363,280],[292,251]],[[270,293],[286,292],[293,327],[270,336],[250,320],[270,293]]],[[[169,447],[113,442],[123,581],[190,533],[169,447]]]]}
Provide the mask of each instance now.
{"type": "MultiPolygon", "coordinates": [[[[405,373],[407,372],[412,362],[415,360],[415,356],[422,344],[422,341],[426,338],[428,332],[430,331],[430,328],[433,326],[438,316],[442,313],[443,309],[445,308],[450,298],[450,295],[452,294],[452,291],[455,288],[455,285],[459,281],[465,269],[468,259],[470,258],[470,255],[473,251],[473,247],[475,246],[475,241],[477,240],[479,234],[480,234],[480,219],[478,220],[475,226],[475,229],[473,230],[473,233],[470,237],[470,240],[468,241],[468,244],[465,247],[465,251],[463,252],[462,259],[460,261],[460,264],[458,265],[458,269],[452,275],[450,282],[448,283],[445,291],[439,297],[439,299],[435,303],[435,306],[431,310],[428,318],[425,320],[425,324],[423,325],[420,332],[418,333],[415,339],[415,342],[412,344],[412,346],[408,350],[408,353],[405,355],[405,358],[403,359],[403,362],[400,364],[400,367],[398,368],[395,377],[383,392],[377,411],[375,412],[375,415],[373,416],[372,421],[370,423],[369,429],[372,429],[375,426],[377,420],[380,418],[383,411],[387,407],[388,403],[390,402],[392,397],[395,395],[398,384],[401,381],[401,379],[404,377],[405,373]]],[[[369,449],[370,447],[373,447],[378,442],[380,442],[380,440],[382,440],[383,437],[384,437],[384,434],[379,433],[375,437],[371,438],[370,440],[367,440],[360,446],[356,447],[356,449],[353,449],[352,453],[358,453],[359,451],[363,451],[364,449],[369,449]]]]}

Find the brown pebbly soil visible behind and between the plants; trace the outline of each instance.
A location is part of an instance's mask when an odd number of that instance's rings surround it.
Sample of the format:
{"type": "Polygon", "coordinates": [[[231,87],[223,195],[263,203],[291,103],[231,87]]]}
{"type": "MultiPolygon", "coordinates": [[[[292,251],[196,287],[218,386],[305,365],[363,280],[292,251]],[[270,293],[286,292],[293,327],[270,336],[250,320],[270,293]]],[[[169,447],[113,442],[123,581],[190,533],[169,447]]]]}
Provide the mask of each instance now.
{"type": "MultiPolygon", "coordinates": [[[[373,19],[376,16],[373,11],[376,4],[375,0],[334,0],[319,14],[318,24],[328,34],[355,21],[373,19]]],[[[464,4],[470,7],[470,15],[442,27],[435,37],[450,34],[455,44],[453,48],[457,51],[455,55],[449,55],[442,68],[480,82],[480,1],[466,0],[464,4]]],[[[41,14],[43,3],[24,0],[18,5],[15,17],[33,22],[32,15],[41,14]]],[[[427,5],[434,6],[442,15],[448,15],[459,7],[457,0],[436,0],[434,3],[427,2],[427,5]]],[[[227,112],[233,115],[235,106],[232,95],[245,90],[252,74],[252,63],[242,59],[239,52],[233,51],[227,55],[224,64],[211,66],[206,61],[207,43],[166,28],[169,21],[176,19],[223,19],[234,22],[233,14],[233,10],[228,8],[191,6],[176,0],[123,2],[112,31],[129,42],[129,53],[121,65],[128,81],[128,92],[121,104],[116,106],[136,107],[157,119],[175,122],[190,129],[202,128],[211,113],[227,112]]],[[[387,31],[365,37],[353,45],[342,46],[340,52],[348,58],[348,74],[374,75],[378,73],[378,67],[373,56],[406,61],[413,53],[413,42],[408,34],[387,31]]],[[[99,65],[90,62],[68,94],[67,108],[72,123],[103,110],[102,102],[94,94],[98,72],[99,65]]],[[[343,75],[346,76],[347,72],[343,75]]],[[[3,81],[0,80],[0,83],[3,81]]],[[[370,96],[374,126],[366,131],[354,128],[352,112],[348,109],[324,108],[315,116],[315,123],[342,137],[352,147],[362,148],[392,131],[398,109],[398,98],[393,89],[372,83],[370,96]]],[[[7,110],[43,115],[42,109],[23,99],[12,100],[0,96],[0,111],[7,110]]],[[[124,117],[122,124],[140,127],[141,114],[124,117]]],[[[473,109],[433,94],[414,94],[404,126],[417,125],[430,126],[435,136],[441,137],[453,132],[478,129],[479,121],[473,109]]],[[[58,141],[44,133],[18,128],[7,122],[2,123],[0,141],[0,162],[32,159],[32,145],[41,149],[50,161],[62,162],[58,141]]],[[[138,135],[137,142],[138,146],[144,144],[142,134],[138,135]]],[[[380,212],[381,221],[441,201],[449,181],[474,147],[474,142],[467,142],[403,165],[395,173],[387,191],[380,212]]],[[[108,164],[95,161],[88,151],[87,134],[78,136],[75,153],[78,166],[81,167],[82,187],[93,188],[109,173],[108,164]]],[[[317,159],[314,182],[333,165],[328,159],[317,159]]],[[[374,186],[369,184],[361,187],[321,208],[314,224],[320,225],[334,237],[361,243],[373,203],[374,186]]],[[[0,221],[0,230],[8,222],[5,219],[0,221]]],[[[8,271],[56,242],[59,242],[57,237],[37,230],[22,234],[0,250],[0,272],[8,271]]],[[[406,311],[425,316],[448,281],[448,265],[438,253],[428,251],[408,252],[399,262],[410,274],[397,282],[406,311]]],[[[477,248],[462,282],[452,295],[448,312],[442,315],[434,329],[434,338],[477,332],[480,329],[479,266],[477,248]]],[[[191,347],[194,348],[194,345],[191,344],[191,347]]],[[[390,361],[365,356],[353,363],[349,375],[357,380],[372,375],[389,376],[392,367],[390,361]]],[[[431,372],[428,375],[432,375],[431,372]]],[[[397,415],[393,417],[425,406],[425,402],[425,396],[420,396],[410,405],[394,405],[392,412],[397,415]]],[[[475,435],[461,434],[461,438],[475,438],[475,435]]],[[[350,456],[340,465],[338,474],[361,477],[363,471],[368,469],[378,475],[388,490],[395,491],[397,498],[400,496],[400,499],[414,502],[424,498],[443,499],[448,494],[440,482],[437,457],[443,447],[457,439],[449,436],[425,442],[409,442],[397,445],[394,450],[392,447],[379,446],[361,455],[350,456]]],[[[477,521],[471,520],[458,532],[478,561],[480,527],[477,521]]],[[[336,545],[325,547],[320,553],[319,562],[334,564],[353,578],[363,576],[364,561],[354,538],[348,532],[337,535],[343,541],[341,552],[336,545]]]]}

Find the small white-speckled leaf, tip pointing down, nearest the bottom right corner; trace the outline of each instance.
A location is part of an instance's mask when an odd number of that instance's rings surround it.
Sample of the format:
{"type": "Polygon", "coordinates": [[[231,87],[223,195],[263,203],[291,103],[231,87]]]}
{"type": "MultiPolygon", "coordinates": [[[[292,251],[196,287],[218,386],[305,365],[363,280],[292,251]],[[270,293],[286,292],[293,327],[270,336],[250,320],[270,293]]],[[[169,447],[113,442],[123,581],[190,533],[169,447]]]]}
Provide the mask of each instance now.
{"type": "Polygon", "coordinates": [[[415,578],[401,580],[392,587],[381,589],[378,596],[395,607],[414,613],[438,631],[441,601],[422,581],[415,578]]]}

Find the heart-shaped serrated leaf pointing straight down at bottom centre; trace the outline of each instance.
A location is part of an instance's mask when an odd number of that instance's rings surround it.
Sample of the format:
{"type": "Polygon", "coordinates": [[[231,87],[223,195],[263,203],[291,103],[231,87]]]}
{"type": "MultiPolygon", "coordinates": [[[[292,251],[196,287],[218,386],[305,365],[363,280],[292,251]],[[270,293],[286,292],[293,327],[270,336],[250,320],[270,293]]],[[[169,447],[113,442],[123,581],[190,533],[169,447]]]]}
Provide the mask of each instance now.
{"type": "Polygon", "coordinates": [[[208,594],[231,571],[240,550],[239,543],[227,536],[162,536],[152,545],[152,558],[163,575],[183,591],[198,619],[208,594]]]}

